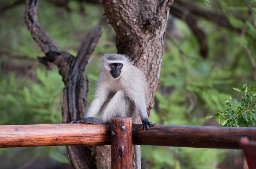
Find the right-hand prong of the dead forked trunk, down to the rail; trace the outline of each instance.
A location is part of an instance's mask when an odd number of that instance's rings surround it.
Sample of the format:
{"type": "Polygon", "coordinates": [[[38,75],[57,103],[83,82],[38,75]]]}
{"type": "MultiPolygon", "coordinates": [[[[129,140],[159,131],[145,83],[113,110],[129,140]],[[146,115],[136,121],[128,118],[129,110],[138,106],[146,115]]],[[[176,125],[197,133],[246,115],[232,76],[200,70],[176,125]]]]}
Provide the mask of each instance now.
{"type": "Polygon", "coordinates": [[[73,117],[71,120],[79,120],[85,113],[86,110],[86,96],[87,87],[83,88],[81,84],[87,84],[87,79],[83,78],[83,72],[88,63],[90,55],[93,53],[99,38],[102,36],[102,29],[97,26],[93,29],[90,37],[82,44],[81,49],[78,51],[77,56],[73,59],[70,65],[70,71],[68,75],[68,100],[69,109],[73,117]],[[76,91],[77,90],[77,91],[76,91]],[[78,99],[76,99],[76,95],[78,99]],[[85,97],[85,98],[84,98],[85,97]],[[77,110],[76,102],[79,101],[79,110],[77,110]]]}

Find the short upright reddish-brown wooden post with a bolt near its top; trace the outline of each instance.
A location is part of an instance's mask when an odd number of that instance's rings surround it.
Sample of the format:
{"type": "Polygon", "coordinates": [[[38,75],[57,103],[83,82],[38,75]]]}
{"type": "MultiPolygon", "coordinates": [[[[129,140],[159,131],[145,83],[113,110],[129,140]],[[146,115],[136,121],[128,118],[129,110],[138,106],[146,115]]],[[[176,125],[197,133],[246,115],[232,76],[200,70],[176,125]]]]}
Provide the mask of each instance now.
{"type": "Polygon", "coordinates": [[[111,168],[132,169],[132,118],[111,119],[111,168]]]}

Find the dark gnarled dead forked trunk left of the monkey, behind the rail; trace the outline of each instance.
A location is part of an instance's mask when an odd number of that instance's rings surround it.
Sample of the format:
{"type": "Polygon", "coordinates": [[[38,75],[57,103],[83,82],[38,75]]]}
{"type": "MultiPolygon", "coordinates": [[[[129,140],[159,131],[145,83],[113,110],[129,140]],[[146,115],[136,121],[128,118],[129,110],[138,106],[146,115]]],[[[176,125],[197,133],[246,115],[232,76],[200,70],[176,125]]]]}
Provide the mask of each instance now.
{"type": "MultiPolygon", "coordinates": [[[[64,82],[63,89],[63,123],[78,120],[86,111],[88,80],[83,72],[90,55],[93,53],[102,35],[101,27],[93,29],[90,37],[82,44],[76,57],[66,52],[58,51],[57,45],[44,32],[38,22],[39,0],[26,0],[25,22],[31,36],[44,52],[44,57],[38,57],[38,62],[50,69],[51,63],[56,65],[64,82]]],[[[70,161],[75,169],[96,168],[95,159],[90,147],[67,146],[70,161]]]]}

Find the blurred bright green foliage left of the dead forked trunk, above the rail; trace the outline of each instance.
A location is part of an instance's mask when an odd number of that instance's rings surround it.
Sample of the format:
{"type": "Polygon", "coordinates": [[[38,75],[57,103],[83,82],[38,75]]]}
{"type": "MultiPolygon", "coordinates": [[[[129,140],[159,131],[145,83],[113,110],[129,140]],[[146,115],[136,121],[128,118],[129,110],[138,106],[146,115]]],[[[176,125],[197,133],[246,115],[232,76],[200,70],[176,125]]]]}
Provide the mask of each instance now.
{"type": "Polygon", "coordinates": [[[39,83],[33,85],[13,73],[0,79],[0,125],[61,123],[61,76],[40,69],[36,75],[39,83]]]}

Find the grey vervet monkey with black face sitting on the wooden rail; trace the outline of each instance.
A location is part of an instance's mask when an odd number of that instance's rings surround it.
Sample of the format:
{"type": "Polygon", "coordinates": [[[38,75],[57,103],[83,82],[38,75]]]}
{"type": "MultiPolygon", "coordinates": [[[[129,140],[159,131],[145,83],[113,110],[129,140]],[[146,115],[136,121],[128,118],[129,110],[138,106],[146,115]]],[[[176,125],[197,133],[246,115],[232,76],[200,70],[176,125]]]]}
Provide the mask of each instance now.
{"type": "MultiPolygon", "coordinates": [[[[114,117],[142,121],[142,129],[154,126],[147,115],[148,84],[144,73],[121,54],[105,54],[99,62],[102,72],[97,80],[95,99],[84,118],[71,123],[108,124],[114,117]],[[99,113],[99,117],[95,115],[99,113]]],[[[134,145],[136,169],[141,168],[140,145],[134,145]]]]}

